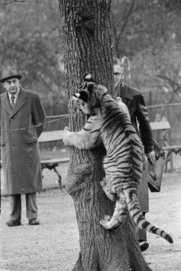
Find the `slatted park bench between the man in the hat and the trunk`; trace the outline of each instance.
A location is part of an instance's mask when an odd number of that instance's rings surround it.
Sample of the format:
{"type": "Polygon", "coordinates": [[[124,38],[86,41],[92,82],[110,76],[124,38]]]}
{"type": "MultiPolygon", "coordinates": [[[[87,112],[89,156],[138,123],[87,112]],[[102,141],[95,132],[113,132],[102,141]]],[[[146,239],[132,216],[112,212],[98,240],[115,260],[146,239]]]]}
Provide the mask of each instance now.
{"type": "MultiPolygon", "coordinates": [[[[39,143],[52,142],[58,140],[63,140],[63,130],[42,132],[42,134],[38,138],[39,143]]],[[[58,175],[60,189],[62,189],[62,177],[59,171],[56,169],[56,167],[59,166],[60,163],[68,162],[69,159],[70,159],[69,157],[54,159],[51,159],[50,157],[41,157],[40,159],[42,171],[45,168],[50,170],[53,169],[54,172],[58,175]]]]}

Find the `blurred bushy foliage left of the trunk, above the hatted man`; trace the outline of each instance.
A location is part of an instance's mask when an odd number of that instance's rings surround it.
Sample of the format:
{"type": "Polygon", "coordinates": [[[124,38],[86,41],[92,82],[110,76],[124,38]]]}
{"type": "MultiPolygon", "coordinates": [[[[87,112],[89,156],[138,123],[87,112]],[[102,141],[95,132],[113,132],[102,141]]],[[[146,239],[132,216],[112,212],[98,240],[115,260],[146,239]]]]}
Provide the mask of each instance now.
{"type": "Polygon", "coordinates": [[[22,86],[40,93],[47,115],[67,111],[58,2],[1,5],[1,69],[15,66],[22,86]]]}

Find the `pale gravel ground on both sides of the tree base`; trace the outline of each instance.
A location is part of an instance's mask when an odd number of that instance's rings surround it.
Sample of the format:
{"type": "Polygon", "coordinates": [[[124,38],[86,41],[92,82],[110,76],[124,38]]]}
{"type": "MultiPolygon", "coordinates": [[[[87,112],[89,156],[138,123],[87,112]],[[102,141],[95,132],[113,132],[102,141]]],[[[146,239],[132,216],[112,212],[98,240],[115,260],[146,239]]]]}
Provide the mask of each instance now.
{"type": "MultiPolygon", "coordinates": [[[[59,171],[64,186],[67,165],[59,167],[59,171]]],[[[5,222],[9,219],[9,197],[1,197],[0,271],[71,271],[75,265],[79,234],[73,200],[65,189],[59,189],[54,172],[44,169],[43,175],[45,191],[37,197],[40,225],[28,225],[22,195],[22,225],[8,227],[5,222]]],[[[1,177],[3,179],[2,172],[1,177]]],[[[169,244],[148,233],[149,248],[143,256],[153,271],[181,270],[180,191],[181,172],[177,169],[176,173],[164,174],[160,193],[149,194],[150,212],[146,218],[167,231],[174,240],[169,244]]]]}

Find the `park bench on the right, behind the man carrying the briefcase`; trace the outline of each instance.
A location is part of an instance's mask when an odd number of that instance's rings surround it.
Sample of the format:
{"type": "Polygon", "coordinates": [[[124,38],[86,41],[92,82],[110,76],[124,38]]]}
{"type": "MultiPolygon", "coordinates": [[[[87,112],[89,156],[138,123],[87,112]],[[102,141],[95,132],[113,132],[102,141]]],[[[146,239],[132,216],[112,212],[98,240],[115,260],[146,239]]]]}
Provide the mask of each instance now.
{"type": "MultiPolygon", "coordinates": [[[[153,121],[150,122],[152,131],[169,131],[171,129],[170,123],[168,121],[153,121]]],[[[170,162],[171,171],[173,171],[172,157],[171,153],[180,154],[181,156],[181,145],[169,145],[166,138],[164,138],[164,145],[162,146],[163,150],[166,151],[166,159],[165,159],[165,169],[164,172],[167,171],[167,164],[170,162]]]]}

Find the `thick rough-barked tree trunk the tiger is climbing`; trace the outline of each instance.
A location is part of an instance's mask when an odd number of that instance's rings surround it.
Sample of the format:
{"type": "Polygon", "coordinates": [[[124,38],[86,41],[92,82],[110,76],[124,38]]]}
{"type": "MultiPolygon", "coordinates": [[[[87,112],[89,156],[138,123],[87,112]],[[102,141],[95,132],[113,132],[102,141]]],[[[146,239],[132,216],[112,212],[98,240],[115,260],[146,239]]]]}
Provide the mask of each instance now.
{"type": "MultiPolygon", "coordinates": [[[[83,114],[75,114],[71,97],[84,73],[92,73],[95,82],[105,85],[114,95],[110,1],[59,0],[59,7],[70,127],[77,131],[85,119],[83,114]]],[[[99,223],[105,215],[113,214],[115,206],[100,186],[104,176],[103,153],[101,148],[95,152],[71,148],[67,191],[75,203],[80,235],[80,253],[73,271],[151,271],[129,216],[114,231],[105,230],[99,223]]]]}

